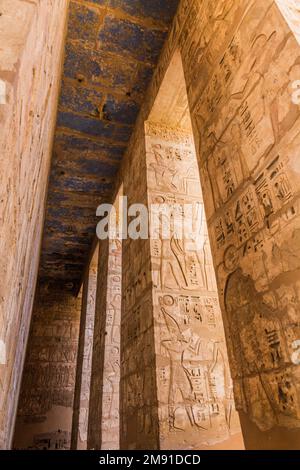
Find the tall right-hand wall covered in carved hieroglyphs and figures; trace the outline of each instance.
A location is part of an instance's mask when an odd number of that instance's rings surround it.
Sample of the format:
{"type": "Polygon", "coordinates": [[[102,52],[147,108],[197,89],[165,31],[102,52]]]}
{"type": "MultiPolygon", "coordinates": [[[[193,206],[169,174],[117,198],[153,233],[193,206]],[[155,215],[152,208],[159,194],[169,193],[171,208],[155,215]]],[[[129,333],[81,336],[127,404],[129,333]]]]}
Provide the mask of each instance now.
{"type": "Polygon", "coordinates": [[[300,49],[271,1],[225,46],[193,119],[236,405],[262,431],[298,428],[300,49]]]}

